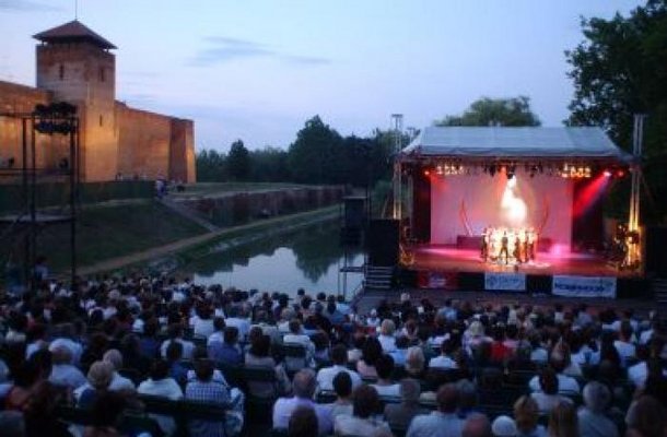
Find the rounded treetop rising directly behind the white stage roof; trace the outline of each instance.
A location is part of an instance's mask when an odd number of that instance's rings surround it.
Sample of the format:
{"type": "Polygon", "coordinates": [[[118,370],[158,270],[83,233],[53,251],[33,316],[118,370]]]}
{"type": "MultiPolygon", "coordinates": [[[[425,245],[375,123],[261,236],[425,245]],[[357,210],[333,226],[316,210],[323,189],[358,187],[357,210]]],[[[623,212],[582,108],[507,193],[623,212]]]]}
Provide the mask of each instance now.
{"type": "Polygon", "coordinates": [[[460,116],[446,116],[435,126],[540,126],[526,96],[514,98],[482,97],[460,116]]]}

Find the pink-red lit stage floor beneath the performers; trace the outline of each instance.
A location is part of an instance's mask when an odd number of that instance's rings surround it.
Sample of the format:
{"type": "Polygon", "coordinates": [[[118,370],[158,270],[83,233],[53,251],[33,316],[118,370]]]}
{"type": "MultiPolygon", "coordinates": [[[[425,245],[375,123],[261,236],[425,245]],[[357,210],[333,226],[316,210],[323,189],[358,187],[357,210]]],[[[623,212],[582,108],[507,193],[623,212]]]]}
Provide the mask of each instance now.
{"type": "MultiPolygon", "coordinates": [[[[410,270],[431,272],[516,272],[512,263],[483,262],[479,250],[457,249],[454,246],[423,245],[408,248],[414,255],[410,270]]],[[[518,272],[543,275],[576,276],[632,276],[632,272],[619,271],[599,256],[588,253],[552,255],[539,252],[537,260],[518,264],[518,272]]]]}

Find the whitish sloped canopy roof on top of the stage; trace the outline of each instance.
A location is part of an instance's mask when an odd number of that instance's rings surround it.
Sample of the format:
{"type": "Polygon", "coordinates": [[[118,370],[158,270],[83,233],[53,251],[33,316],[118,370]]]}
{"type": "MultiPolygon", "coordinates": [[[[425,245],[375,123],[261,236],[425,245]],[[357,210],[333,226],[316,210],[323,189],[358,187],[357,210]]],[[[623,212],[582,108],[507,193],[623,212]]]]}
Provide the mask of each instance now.
{"type": "Polygon", "coordinates": [[[402,158],[592,160],[629,162],[600,128],[428,127],[402,158]]]}

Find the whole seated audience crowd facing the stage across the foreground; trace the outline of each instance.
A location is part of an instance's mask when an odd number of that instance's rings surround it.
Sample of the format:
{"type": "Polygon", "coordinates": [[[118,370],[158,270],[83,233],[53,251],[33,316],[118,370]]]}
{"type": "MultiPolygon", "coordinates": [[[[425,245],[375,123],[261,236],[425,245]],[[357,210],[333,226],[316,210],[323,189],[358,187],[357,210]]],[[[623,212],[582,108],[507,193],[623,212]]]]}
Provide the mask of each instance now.
{"type": "Polygon", "coordinates": [[[359,314],[303,290],[290,298],[164,276],[75,288],[45,281],[38,292],[0,295],[1,436],[667,429],[667,336],[655,312],[575,302],[436,307],[403,293],[359,314]],[[156,400],[218,410],[184,423],[151,409],[156,400]]]}

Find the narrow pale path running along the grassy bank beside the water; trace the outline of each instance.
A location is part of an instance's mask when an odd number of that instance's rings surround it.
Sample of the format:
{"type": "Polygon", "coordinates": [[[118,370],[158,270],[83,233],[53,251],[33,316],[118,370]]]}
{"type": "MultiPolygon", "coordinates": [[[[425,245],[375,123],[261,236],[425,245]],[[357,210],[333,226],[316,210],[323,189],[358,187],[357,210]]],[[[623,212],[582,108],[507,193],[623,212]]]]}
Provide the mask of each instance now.
{"type": "Polygon", "coordinates": [[[336,215],[338,215],[338,213],[339,213],[338,211],[339,211],[339,206],[334,205],[334,206],[327,206],[327,208],[323,208],[323,209],[318,209],[318,210],[314,210],[314,211],[306,211],[306,212],[301,212],[301,213],[296,213],[296,214],[281,215],[281,216],[268,218],[268,220],[260,220],[260,221],[256,221],[253,223],[248,223],[246,225],[227,227],[227,228],[215,231],[215,232],[209,232],[209,233],[206,233],[202,235],[197,235],[195,237],[180,239],[178,241],[174,241],[168,245],[154,247],[152,249],[144,250],[141,252],[127,255],[124,257],[112,258],[112,259],[101,261],[101,262],[97,262],[97,263],[91,264],[91,265],[80,267],[78,269],[78,274],[90,275],[90,274],[94,274],[94,273],[118,270],[118,269],[121,269],[127,265],[150,261],[153,259],[157,259],[157,258],[171,255],[171,253],[175,253],[175,252],[188,249],[190,247],[194,247],[194,246],[197,246],[200,244],[213,241],[215,239],[222,238],[225,235],[229,235],[232,233],[248,232],[248,231],[261,228],[261,227],[265,227],[267,225],[272,225],[272,224],[273,225],[284,225],[284,224],[289,224],[289,222],[292,222],[294,220],[307,218],[308,216],[313,216],[313,218],[317,217],[318,221],[326,220],[326,218],[332,218],[336,215]],[[330,212],[325,213],[327,210],[330,210],[330,212]]]}

